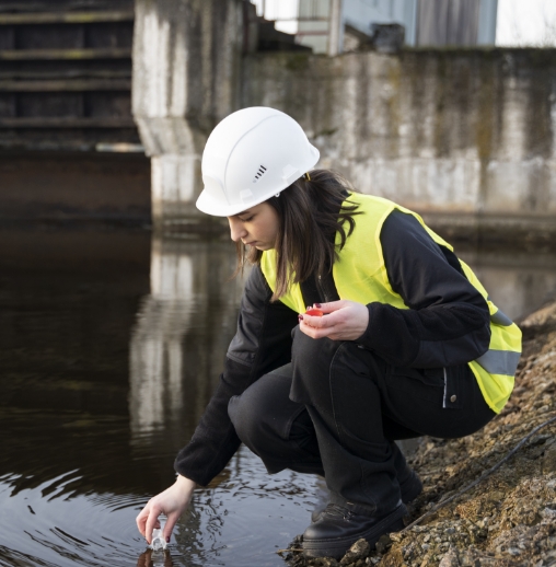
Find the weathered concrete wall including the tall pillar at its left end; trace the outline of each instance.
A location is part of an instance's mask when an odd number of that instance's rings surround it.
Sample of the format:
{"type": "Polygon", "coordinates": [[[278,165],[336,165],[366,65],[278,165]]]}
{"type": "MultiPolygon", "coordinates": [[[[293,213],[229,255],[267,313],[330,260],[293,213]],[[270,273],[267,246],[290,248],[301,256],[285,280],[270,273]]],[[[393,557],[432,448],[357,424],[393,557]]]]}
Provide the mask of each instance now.
{"type": "Polygon", "coordinates": [[[200,222],[200,155],[240,107],[297,118],[318,166],[448,229],[556,232],[556,50],[242,54],[240,0],[136,0],[134,115],[155,224],[200,222]]]}

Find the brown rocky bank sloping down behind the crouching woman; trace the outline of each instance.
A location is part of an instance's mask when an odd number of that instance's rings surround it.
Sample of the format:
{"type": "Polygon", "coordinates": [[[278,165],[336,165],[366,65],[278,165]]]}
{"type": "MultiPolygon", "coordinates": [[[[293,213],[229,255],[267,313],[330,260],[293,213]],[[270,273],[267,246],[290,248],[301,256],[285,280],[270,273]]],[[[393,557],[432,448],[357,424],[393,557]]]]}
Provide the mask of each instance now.
{"type": "MultiPolygon", "coordinates": [[[[408,459],[425,489],[407,524],[471,485],[533,429],[556,417],[556,299],[520,323],[514,392],[479,432],[455,440],[425,438],[408,459]]],[[[299,548],[299,542],[293,542],[299,548]]],[[[285,557],[296,567],[549,567],[556,566],[556,421],[538,430],[498,470],[405,532],[366,542],[340,562],[285,557]]]]}

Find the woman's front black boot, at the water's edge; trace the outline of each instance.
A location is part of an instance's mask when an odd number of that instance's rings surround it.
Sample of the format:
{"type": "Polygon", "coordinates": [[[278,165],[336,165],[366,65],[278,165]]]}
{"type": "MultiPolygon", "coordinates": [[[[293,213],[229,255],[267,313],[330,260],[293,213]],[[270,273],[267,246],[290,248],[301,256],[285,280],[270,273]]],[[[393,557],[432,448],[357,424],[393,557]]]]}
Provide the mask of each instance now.
{"type": "Polygon", "coordinates": [[[380,518],[354,512],[351,502],[329,504],[303,533],[303,554],[338,559],[361,537],[373,548],[381,535],[403,530],[406,513],[403,504],[380,518]]]}

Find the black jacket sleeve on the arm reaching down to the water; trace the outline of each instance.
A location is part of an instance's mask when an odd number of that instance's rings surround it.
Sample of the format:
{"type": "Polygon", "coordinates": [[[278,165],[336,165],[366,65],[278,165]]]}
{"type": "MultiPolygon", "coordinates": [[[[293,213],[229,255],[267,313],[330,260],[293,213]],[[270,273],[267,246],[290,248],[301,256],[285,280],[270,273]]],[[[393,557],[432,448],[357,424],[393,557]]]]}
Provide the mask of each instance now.
{"type": "Polygon", "coordinates": [[[298,314],[279,301],[270,303],[270,297],[271,290],[255,266],[245,285],[220,384],[174,463],[177,473],[199,485],[210,483],[240,447],[228,416],[230,397],[291,359],[291,329],[298,324],[298,314]]]}

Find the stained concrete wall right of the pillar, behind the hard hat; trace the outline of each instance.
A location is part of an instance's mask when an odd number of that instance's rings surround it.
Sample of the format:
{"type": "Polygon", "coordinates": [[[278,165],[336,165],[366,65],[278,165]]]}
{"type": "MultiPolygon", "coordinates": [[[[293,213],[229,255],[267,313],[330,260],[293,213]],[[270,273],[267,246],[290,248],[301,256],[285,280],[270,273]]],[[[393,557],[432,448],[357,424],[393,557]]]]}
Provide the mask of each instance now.
{"type": "Polygon", "coordinates": [[[441,224],[555,230],[556,50],[259,54],[243,77],[243,106],[291,114],[363,193],[441,224]]]}

